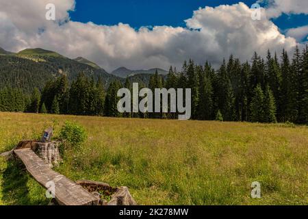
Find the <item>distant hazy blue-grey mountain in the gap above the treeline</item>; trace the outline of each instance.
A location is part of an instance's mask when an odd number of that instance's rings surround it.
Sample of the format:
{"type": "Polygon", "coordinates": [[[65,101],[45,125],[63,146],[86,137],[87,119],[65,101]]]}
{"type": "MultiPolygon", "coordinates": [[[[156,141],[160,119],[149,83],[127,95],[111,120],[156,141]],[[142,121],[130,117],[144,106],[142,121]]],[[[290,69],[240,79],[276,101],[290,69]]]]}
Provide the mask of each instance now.
{"type": "Polygon", "coordinates": [[[155,74],[155,71],[157,70],[159,75],[167,75],[168,72],[162,68],[151,68],[149,70],[129,70],[125,67],[120,67],[117,68],[112,72],[112,75],[126,78],[126,77],[131,77],[134,75],[153,75],[155,74]]]}

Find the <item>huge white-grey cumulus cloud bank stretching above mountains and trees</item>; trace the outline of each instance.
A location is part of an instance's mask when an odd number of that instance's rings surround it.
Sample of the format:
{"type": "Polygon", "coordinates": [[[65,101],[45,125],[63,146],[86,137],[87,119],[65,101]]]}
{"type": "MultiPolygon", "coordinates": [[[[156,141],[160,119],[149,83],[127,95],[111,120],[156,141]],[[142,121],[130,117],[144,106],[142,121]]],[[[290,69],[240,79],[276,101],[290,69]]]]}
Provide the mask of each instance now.
{"type": "Polygon", "coordinates": [[[203,64],[221,62],[231,53],[250,60],[253,51],[291,51],[294,35],[285,36],[272,21],[253,21],[244,3],[196,10],[187,27],[97,25],[70,21],[73,0],[0,0],[0,47],[18,51],[42,47],[68,57],[83,56],[106,70],[181,67],[192,58],[203,64]],[[45,5],[55,3],[57,22],[45,19],[45,5]],[[59,23],[59,21],[61,21],[59,23]],[[63,22],[66,21],[66,22],[63,22]]]}

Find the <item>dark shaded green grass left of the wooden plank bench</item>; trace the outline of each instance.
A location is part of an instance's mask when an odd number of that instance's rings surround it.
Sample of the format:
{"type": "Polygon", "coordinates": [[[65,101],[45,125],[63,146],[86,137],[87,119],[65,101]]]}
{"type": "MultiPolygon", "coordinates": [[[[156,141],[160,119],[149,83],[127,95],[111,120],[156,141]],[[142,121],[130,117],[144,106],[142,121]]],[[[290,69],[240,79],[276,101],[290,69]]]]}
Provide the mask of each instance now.
{"type": "Polygon", "coordinates": [[[6,205],[47,205],[44,189],[27,173],[19,159],[8,159],[1,183],[6,205]]]}

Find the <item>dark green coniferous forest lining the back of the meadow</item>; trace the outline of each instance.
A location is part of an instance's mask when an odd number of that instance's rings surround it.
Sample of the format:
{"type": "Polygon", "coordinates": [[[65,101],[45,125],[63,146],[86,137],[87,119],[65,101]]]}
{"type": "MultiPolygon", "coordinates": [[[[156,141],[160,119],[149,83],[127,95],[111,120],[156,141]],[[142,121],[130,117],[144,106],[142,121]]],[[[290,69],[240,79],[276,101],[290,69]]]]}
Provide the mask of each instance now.
{"type": "MultiPolygon", "coordinates": [[[[21,88],[2,87],[0,111],[177,118],[176,113],[124,113],[117,110],[118,89],[132,89],[132,81],[114,80],[108,88],[102,79],[80,73],[73,82],[66,75],[48,81],[31,94],[21,88]]],[[[31,85],[33,86],[33,85],[31,85]]],[[[294,54],[283,51],[241,63],[231,55],[215,70],[209,62],[184,62],[181,70],[170,67],[166,77],[151,76],[139,89],[191,88],[192,119],[308,124],[308,47],[294,54]]]]}

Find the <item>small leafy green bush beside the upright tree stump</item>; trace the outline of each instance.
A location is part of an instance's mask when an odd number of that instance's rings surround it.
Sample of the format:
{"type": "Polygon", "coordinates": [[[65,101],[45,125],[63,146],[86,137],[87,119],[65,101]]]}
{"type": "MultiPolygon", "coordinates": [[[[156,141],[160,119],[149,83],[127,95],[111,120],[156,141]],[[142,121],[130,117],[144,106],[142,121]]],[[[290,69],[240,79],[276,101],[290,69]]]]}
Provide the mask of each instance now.
{"type": "Polygon", "coordinates": [[[86,141],[87,133],[81,125],[66,121],[60,131],[60,138],[68,146],[81,146],[86,141]]]}

